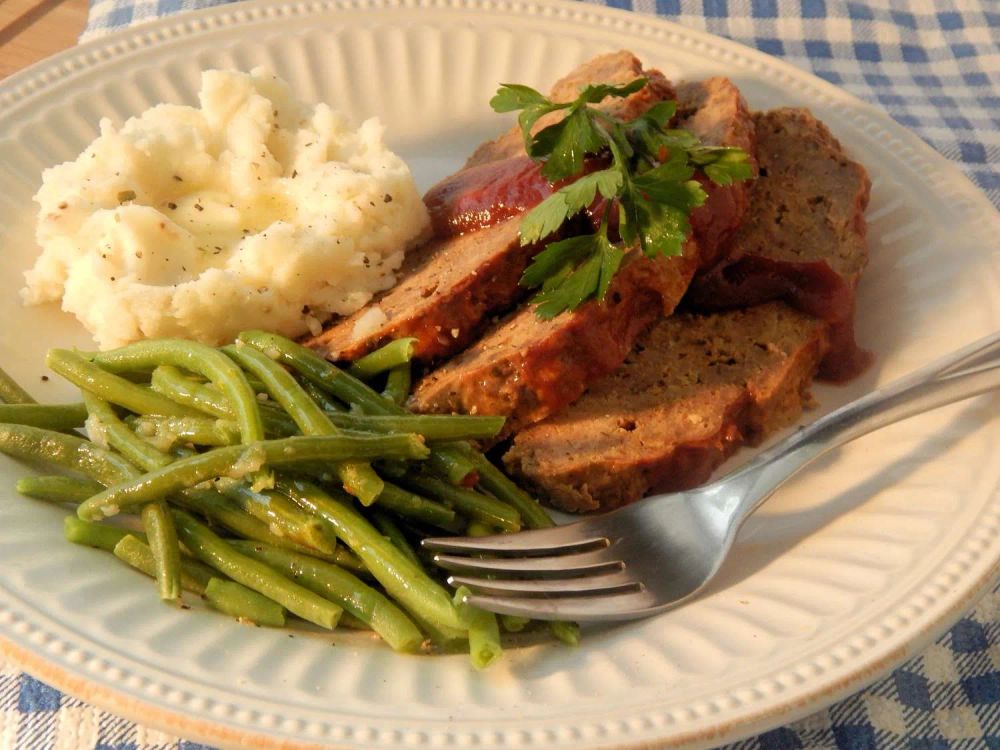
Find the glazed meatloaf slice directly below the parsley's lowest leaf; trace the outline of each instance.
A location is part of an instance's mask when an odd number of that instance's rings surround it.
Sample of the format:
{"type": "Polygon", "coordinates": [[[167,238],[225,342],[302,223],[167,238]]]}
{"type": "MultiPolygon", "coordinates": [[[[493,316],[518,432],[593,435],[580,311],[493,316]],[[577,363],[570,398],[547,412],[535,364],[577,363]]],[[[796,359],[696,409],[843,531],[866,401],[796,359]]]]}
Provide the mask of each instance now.
{"type": "Polygon", "coordinates": [[[694,242],[681,256],[630,255],[603,303],[591,300],[552,320],[524,305],[424,377],[411,406],[500,414],[507,417],[503,435],[509,435],[575,401],[622,363],[642,331],[673,310],[698,263],[694,242]]]}

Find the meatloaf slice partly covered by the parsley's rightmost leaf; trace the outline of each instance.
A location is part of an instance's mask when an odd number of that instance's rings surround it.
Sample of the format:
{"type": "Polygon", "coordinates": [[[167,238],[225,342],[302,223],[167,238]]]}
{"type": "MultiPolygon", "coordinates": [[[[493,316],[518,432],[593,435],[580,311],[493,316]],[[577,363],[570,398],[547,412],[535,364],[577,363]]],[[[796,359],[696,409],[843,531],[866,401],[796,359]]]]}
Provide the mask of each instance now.
{"type": "MultiPolygon", "coordinates": [[[[677,127],[694,133],[708,146],[733,146],[754,159],[756,137],[746,101],[728,78],[709,78],[677,86],[677,127]]],[[[698,240],[701,263],[708,267],[721,257],[726,243],[743,223],[750,205],[752,182],[716,185],[703,175],[698,181],[708,193],[691,212],[691,228],[698,240]]]]}

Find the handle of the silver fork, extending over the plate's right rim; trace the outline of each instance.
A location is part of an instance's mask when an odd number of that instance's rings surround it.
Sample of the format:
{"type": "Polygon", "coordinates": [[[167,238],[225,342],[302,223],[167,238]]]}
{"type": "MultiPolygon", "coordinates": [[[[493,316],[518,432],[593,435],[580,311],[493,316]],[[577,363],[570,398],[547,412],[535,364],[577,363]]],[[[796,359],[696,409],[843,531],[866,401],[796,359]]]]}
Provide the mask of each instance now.
{"type": "MultiPolygon", "coordinates": [[[[724,478],[739,524],[824,453],[908,417],[1000,388],[1000,332],[953,352],[827,414],[724,478]]],[[[720,483],[721,484],[721,483],[720,483]]],[[[710,489],[710,488],[706,488],[710,489]]]]}

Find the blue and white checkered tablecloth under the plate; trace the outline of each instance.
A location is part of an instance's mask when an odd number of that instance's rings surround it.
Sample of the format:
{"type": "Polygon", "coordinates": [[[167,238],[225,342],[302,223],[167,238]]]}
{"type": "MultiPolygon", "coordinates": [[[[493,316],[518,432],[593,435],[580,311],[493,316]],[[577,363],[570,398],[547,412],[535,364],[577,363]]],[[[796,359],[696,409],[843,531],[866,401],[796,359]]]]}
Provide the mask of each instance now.
{"type": "MultiPolygon", "coordinates": [[[[83,38],[227,0],[93,0],[83,38]]],[[[606,0],[735,39],[871,102],[1000,207],[1000,0],[606,0]]],[[[0,661],[0,746],[193,750],[0,661]]],[[[1000,750],[1000,587],[889,677],[739,750],[1000,750]]]]}

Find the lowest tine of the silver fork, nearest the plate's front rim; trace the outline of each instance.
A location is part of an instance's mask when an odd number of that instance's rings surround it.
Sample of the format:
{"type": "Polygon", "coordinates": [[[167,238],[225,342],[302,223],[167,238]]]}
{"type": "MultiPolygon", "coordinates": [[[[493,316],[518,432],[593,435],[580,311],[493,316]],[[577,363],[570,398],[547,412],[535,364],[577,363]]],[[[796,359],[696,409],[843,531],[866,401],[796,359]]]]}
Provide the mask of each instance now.
{"type": "Polygon", "coordinates": [[[537,596],[484,596],[472,594],[468,602],[481,609],[533,620],[630,620],[662,607],[648,589],[608,596],[546,598],[537,596]]]}

